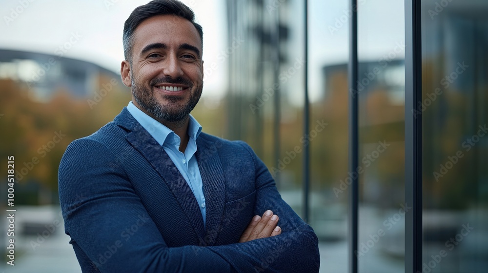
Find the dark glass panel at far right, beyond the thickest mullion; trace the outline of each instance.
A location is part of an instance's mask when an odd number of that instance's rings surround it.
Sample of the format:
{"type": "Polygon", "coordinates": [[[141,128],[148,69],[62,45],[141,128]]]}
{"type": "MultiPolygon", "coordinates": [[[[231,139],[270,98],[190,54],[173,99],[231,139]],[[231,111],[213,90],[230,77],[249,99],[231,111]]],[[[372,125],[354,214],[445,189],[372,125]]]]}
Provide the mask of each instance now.
{"type": "Polygon", "coordinates": [[[422,1],[423,272],[488,268],[487,12],[422,1]]]}

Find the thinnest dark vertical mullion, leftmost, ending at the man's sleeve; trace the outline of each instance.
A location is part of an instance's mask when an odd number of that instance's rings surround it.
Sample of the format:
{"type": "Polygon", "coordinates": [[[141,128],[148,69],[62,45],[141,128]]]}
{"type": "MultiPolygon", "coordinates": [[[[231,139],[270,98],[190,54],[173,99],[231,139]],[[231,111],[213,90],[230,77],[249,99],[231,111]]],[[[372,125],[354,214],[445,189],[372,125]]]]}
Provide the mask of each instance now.
{"type": "MultiPolygon", "coordinates": [[[[305,88],[305,99],[304,99],[304,134],[308,135],[310,132],[310,105],[308,101],[308,0],[305,0],[305,72],[304,72],[304,88],[305,88]]],[[[309,143],[308,143],[309,144],[309,143]]],[[[308,193],[310,191],[310,145],[304,144],[304,221],[308,223],[308,193]]]]}

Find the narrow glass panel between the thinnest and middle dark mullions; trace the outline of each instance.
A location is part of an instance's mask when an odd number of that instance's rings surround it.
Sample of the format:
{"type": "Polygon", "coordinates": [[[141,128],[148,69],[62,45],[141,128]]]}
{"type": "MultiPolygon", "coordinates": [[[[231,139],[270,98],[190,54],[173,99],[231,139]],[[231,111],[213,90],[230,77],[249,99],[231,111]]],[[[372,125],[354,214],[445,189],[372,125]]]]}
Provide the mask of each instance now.
{"type": "Polygon", "coordinates": [[[349,18],[347,0],[310,0],[310,224],[319,238],[321,273],[348,272],[347,177],[349,18]],[[322,128],[323,127],[323,128],[322,128]],[[315,132],[313,132],[315,131],[315,132]]]}

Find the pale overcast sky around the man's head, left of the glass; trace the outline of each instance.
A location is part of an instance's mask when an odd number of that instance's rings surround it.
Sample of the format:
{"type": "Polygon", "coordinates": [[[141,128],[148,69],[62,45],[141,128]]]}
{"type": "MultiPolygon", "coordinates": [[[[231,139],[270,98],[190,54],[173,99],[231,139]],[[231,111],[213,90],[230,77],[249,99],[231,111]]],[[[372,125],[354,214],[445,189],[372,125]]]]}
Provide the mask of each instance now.
{"type": "MultiPolygon", "coordinates": [[[[28,2],[29,0],[25,0],[28,2]]],[[[30,0],[17,18],[11,9],[20,8],[19,0],[2,0],[0,7],[0,47],[55,54],[60,45],[74,35],[80,37],[65,57],[94,62],[115,72],[123,59],[123,23],[137,6],[148,0],[30,0]],[[11,18],[6,19],[5,17],[11,18]]],[[[217,61],[225,48],[224,0],[183,0],[203,26],[203,60],[217,61]],[[211,16],[209,16],[211,15],[211,16]],[[206,31],[208,30],[208,31],[206,31]],[[210,31],[212,30],[212,31],[210,31]]],[[[221,62],[218,62],[221,64],[221,62]]],[[[208,92],[222,94],[226,77],[222,69],[205,79],[208,92]]]]}

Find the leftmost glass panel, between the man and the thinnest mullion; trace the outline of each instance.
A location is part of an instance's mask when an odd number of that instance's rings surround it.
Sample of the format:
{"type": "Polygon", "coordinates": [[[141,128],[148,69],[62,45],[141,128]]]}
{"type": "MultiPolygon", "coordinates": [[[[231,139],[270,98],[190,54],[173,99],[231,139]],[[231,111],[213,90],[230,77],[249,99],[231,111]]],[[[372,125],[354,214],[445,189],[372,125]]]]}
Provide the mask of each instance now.
{"type": "Polygon", "coordinates": [[[228,137],[249,143],[302,216],[303,1],[228,0],[226,7],[229,46],[244,40],[229,57],[228,137]]]}

